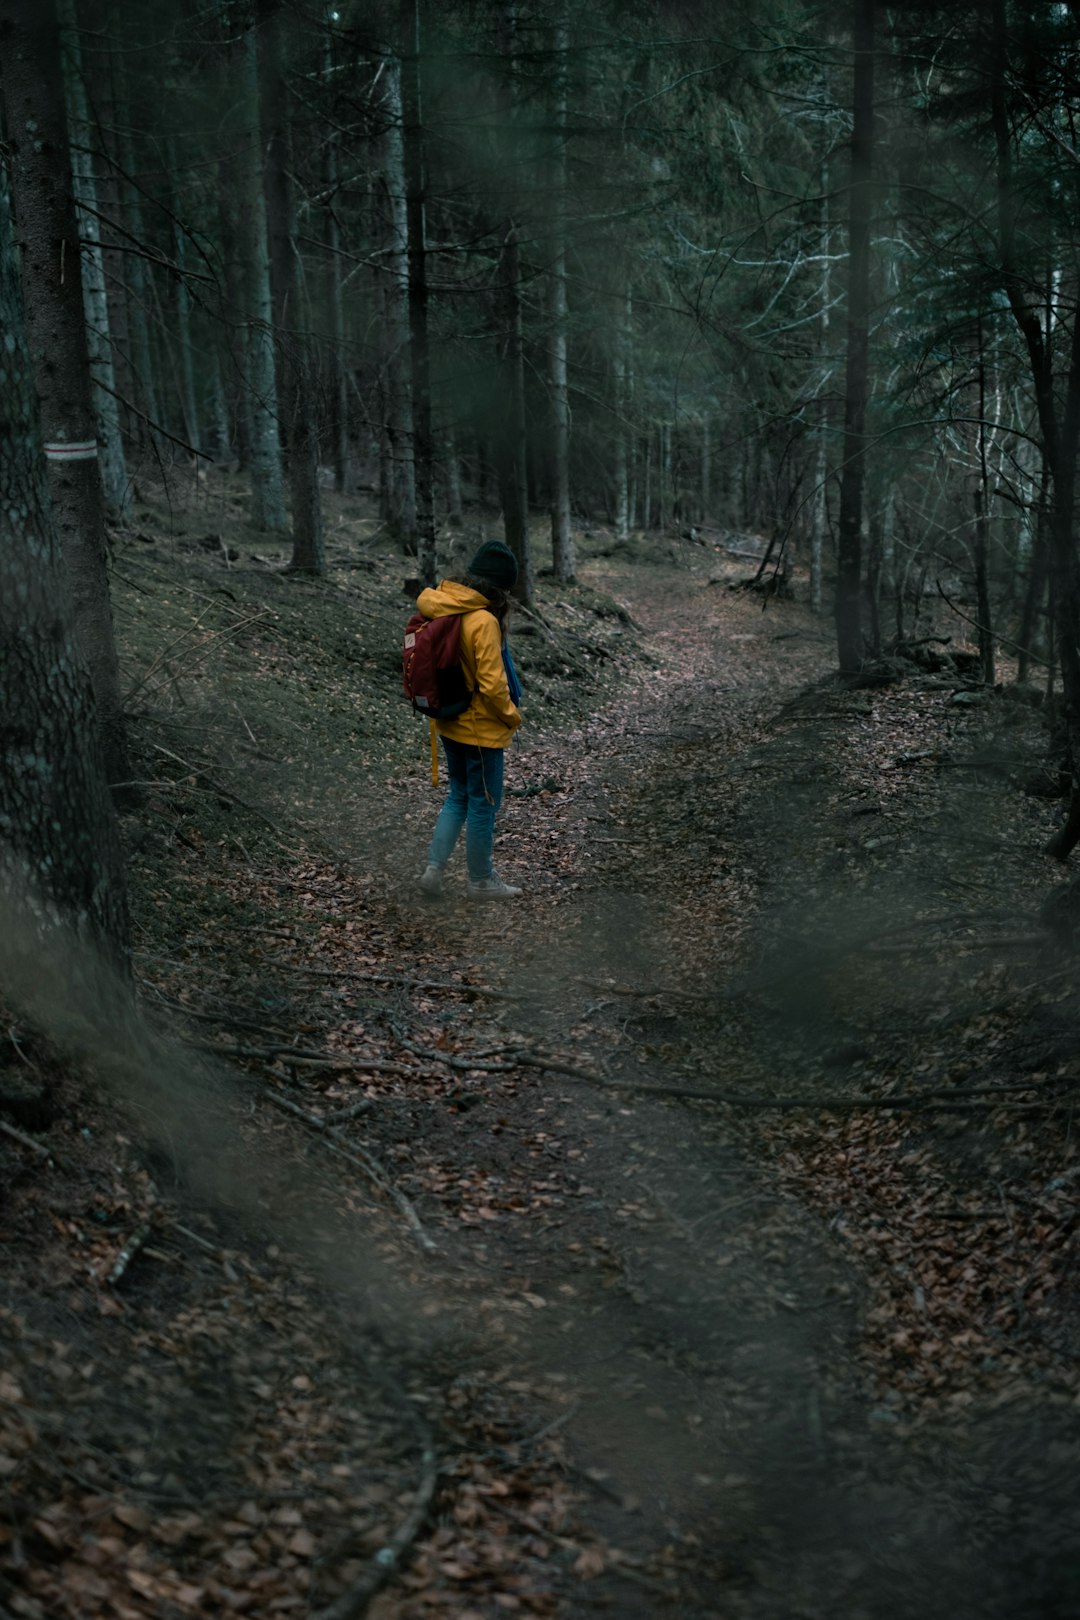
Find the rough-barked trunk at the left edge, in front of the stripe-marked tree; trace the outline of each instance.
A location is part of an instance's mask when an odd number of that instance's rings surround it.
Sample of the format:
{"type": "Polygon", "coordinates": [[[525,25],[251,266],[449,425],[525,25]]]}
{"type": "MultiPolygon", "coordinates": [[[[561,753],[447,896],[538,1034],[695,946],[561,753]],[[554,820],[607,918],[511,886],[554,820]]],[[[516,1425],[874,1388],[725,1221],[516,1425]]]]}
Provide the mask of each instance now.
{"type": "MultiPolygon", "coordinates": [[[[16,39],[5,37],[5,102],[13,130],[26,130],[18,113],[23,97],[8,99],[11,81],[24,78],[21,55],[28,36],[52,34],[55,18],[40,3],[36,21],[16,39]],[[45,13],[45,15],[42,15],[45,13]],[[52,26],[50,26],[52,24],[52,26]]],[[[23,8],[29,18],[31,8],[23,8]]],[[[55,71],[55,50],[52,53],[55,71]]],[[[55,84],[60,94],[60,86],[55,84]]],[[[50,102],[37,99],[42,144],[50,102]]],[[[34,154],[40,157],[40,152],[34,154]]],[[[16,164],[19,159],[16,157],[16,164]]],[[[68,204],[70,212],[70,204],[68,204]]],[[[71,243],[66,237],[50,238],[71,243]]],[[[53,253],[55,258],[55,253],[53,253]]],[[[3,948],[26,969],[21,927],[47,932],[50,912],[126,964],[128,907],[123,857],[105,786],[92,688],[73,633],[66,559],[52,523],[47,462],[37,424],[34,363],[24,335],[16,246],[0,177],[0,329],[5,334],[5,382],[0,390],[0,893],[3,948]],[[42,907],[42,901],[45,907],[42,907]],[[19,927],[21,925],[21,927],[19,927]]],[[[78,266],[78,256],[74,258],[78,266]]],[[[74,296],[78,300],[78,275],[74,296]]],[[[92,462],[84,463],[92,473],[92,462]]],[[[6,987],[6,975],[5,975],[6,987]]]]}

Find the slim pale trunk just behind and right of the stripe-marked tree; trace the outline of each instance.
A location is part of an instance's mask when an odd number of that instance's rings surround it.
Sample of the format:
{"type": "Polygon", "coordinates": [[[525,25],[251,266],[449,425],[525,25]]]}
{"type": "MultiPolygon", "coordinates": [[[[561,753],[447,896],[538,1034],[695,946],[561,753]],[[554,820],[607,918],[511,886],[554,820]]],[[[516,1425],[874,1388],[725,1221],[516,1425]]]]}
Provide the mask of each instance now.
{"type": "MultiPolygon", "coordinates": [[[[47,6],[49,0],[42,0],[47,6]]],[[[105,509],[110,517],[121,518],[131,505],[128,468],[120,436],[120,402],[112,363],[108,332],[108,293],[105,288],[105,261],[102,256],[100,224],[97,209],[97,181],[91,157],[92,130],[83,83],[78,21],[74,0],[58,0],[62,24],[60,52],[68,99],[68,125],[71,131],[71,188],[74,191],[79,238],[83,243],[83,306],[86,313],[86,347],[91,377],[94,379],[94,415],[100,441],[100,478],[105,491],[105,509]]]]}

